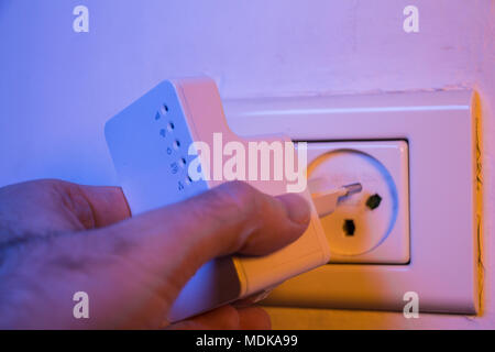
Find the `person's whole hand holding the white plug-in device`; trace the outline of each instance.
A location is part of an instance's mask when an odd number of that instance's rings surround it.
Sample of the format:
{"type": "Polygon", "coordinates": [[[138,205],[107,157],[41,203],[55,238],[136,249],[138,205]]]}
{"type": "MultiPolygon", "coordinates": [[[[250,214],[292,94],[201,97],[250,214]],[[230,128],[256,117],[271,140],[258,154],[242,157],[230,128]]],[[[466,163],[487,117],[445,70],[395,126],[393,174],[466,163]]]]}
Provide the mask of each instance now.
{"type": "Polygon", "coordinates": [[[295,241],[307,202],[242,182],[132,217],[119,187],[35,180],[0,188],[0,328],[268,329],[257,307],[227,305],[170,324],[182,287],[211,258],[295,241]],[[73,316],[77,292],[89,318],[73,316]]]}

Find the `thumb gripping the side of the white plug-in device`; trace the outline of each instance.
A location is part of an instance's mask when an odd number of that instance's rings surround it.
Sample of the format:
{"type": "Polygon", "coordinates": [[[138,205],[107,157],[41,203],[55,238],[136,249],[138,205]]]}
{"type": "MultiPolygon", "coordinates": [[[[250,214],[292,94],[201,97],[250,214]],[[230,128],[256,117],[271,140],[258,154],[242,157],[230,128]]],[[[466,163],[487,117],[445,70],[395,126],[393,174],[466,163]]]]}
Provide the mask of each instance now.
{"type": "Polygon", "coordinates": [[[167,296],[176,297],[206,262],[274,252],[299,238],[309,219],[310,209],[297,195],[272,197],[232,182],[102,230],[106,238],[131,243],[129,255],[165,277],[163,288],[174,288],[167,296]]]}

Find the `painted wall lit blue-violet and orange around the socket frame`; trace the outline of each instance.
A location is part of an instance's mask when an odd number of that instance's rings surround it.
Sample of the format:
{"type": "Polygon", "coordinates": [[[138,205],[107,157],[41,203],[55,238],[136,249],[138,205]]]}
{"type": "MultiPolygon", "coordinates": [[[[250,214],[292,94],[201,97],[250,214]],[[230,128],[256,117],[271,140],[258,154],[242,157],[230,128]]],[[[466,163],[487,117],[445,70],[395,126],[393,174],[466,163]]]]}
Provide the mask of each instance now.
{"type": "Polygon", "coordinates": [[[116,184],[103,123],[168,77],[210,75],[223,98],[474,87],[483,101],[480,316],[270,312],[275,328],[495,328],[494,20],[490,0],[0,0],[0,186],[116,184]],[[411,3],[419,33],[403,30],[411,3]],[[89,33],[73,31],[78,4],[89,9],[89,33]]]}

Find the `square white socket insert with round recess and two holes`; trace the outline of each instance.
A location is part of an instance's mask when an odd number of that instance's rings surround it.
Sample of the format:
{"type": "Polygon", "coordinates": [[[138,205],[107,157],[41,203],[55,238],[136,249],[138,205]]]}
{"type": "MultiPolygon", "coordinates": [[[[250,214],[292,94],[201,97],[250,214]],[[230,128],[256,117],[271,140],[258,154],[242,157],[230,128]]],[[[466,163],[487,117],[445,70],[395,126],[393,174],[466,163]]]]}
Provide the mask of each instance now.
{"type": "Polygon", "coordinates": [[[409,262],[409,184],[406,141],[308,143],[308,179],[319,187],[360,183],[320,218],[330,263],[409,262]]]}

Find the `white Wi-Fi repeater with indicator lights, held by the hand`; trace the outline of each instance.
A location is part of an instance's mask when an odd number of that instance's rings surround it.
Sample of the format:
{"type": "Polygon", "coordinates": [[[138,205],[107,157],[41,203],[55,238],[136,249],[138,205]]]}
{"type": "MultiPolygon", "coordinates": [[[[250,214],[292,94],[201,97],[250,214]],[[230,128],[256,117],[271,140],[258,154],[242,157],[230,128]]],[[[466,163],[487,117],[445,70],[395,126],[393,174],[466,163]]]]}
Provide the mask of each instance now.
{"type": "MultiPolygon", "coordinates": [[[[206,191],[224,180],[191,180],[189,145],[223,142],[290,142],[284,136],[243,139],[230,131],[217,86],[209,78],[165,80],[106,124],[107,143],[131,212],[138,215],[206,191]]],[[[292,142],[290,142],[292,143],[292,142]]],[[[305,165],[306,167],[306,165],[305,165]]],[[[248,182],[263,193],[287,191],[286,180],[248,182]]],[[[169,321],[178,321],[230,301],[261,294],[285,279],[329,261],[329,248],[308,190],[311,207],[306,232],[265,256],[230,256],[205,264],[176,298],[169,321]]],[[[174,221],[174,220],[170,220],[174,221]]]]}

